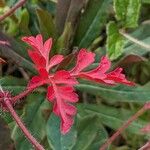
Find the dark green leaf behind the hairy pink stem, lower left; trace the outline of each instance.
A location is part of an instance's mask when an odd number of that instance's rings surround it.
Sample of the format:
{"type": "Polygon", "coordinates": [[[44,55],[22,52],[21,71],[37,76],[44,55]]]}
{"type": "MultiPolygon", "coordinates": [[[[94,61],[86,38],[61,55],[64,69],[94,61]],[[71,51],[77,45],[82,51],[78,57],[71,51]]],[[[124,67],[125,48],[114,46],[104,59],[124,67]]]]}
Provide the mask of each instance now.
{"type": "MultiPolygon", "coordinates": [[[[45,103],[44,97],[43,94],[35,93],[28,96],[28,103],[21,116],[26,127],[39,142],[41,142],[46,135],[46,121],[42,115],[42,105],[45,103]]],[[[15,125],[12,131],[12,139],[15,141],[16,150],[34,149],[17,125],[15,125]]]]}

